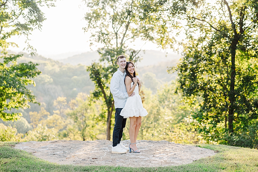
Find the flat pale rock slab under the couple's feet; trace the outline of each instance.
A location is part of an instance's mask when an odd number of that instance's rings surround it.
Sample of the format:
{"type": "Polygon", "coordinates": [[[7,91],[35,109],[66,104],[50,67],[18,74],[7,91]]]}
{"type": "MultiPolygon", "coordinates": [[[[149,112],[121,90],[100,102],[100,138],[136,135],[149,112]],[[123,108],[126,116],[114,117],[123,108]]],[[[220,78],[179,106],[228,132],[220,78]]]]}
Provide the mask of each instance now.
{"type": "MultiPolygon", "coordinates": [[[[128,146],[130,140],[123,140],[122,143],[128,146]]],[[[109,140],[53,140],[22,142],[14,148],[31,152],[52,163],[123,167],[181,165],[216,154],[214,150],[168,141],[139,140],[137,147],[141,153],[112,154],[112,142],[109,140]]]]}

